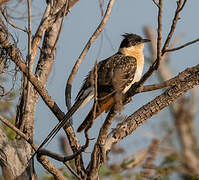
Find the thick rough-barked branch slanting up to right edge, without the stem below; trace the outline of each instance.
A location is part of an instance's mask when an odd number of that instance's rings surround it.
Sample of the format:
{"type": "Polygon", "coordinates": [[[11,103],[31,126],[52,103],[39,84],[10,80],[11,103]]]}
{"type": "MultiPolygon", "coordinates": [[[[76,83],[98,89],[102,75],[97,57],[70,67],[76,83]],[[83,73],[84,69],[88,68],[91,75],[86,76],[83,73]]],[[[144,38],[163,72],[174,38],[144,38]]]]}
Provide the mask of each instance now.
{"type": "Polygon", "coordinates": [[[111,149],[111,146],[120,139],[131,134],[142,123],[146,122],[153,115],[173,103],[178,97],[182,96],[189,89],[199,85],[199,65],[186,69],[176,76],[178,84],[166,90],[162,95],[156,97],[148,104],[141,107],[134,114],[118,124],[107,138],[105,152],[111,149]]]}

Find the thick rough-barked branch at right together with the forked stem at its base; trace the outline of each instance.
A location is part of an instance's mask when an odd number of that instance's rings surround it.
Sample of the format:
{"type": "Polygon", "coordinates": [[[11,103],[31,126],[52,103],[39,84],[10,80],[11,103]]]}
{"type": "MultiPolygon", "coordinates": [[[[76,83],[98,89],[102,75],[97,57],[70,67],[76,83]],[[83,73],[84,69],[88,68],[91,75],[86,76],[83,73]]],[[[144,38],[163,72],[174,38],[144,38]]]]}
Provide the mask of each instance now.
{"type": "MultiPolygon", "coordinates": [[[[199,65],[186,69],[184,72],[176,76],[176,80],[178,81],[177,85],[172,86],[162,95],[156,97],[123,122],[119,123],[106,138],[107,129],[104,129],[104,127],[110,126],[109,123],[112,122],[112,116],[110,115],[113,112],[109,113],[102,128],[100,129],[100,133],[102,132],[102,134],[100,134],[98,137],[98,143],[94,146],[91,157],[92,162],[90,162],[87,168],[89,177],[92,177],[93,179],[97,178],[98,174],[96,173],[104,160],[104,155],[110,151],[113,144],[118,143],[121,139],[130,135],[142,123],[146,122],[146,120],[174,102],[189,89],[199,85],[199,65]],[[110,120],[108,118],[110,118],[110,120]],[[107,120],[109,120],[108,123],[107,120]]],[[[114,116],[114,114],[112,115],[114,116]]]]}

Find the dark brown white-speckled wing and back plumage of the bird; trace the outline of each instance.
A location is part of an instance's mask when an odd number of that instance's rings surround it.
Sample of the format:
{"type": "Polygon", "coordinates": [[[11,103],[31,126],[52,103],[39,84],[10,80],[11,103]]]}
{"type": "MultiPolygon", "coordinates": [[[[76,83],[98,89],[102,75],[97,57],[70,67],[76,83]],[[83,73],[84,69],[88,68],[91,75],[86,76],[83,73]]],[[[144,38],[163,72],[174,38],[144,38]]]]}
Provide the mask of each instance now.
{"type": "MultiPolygon", "coordinates": [[[[120,73],[120,76],[118,77],[118,80],[120,80],[119,83],[123,84],[124,88],[128,86],[134,79],[136,67],[136,59],[134,57],[125,56],[121,53],[116,53],[113,56],[99,62],[97,64],[98,97],[102,98],[103,96],[108,95],[110,92],[115,91],[114,83],[117,81],[117,79],[114,78],[116,77],[116,73],[120,73]]],[[[93,70],[90,71],[77,95],[76,100],[81,98],[85,90],[92,86],[93,74],[93,70]]]]}

